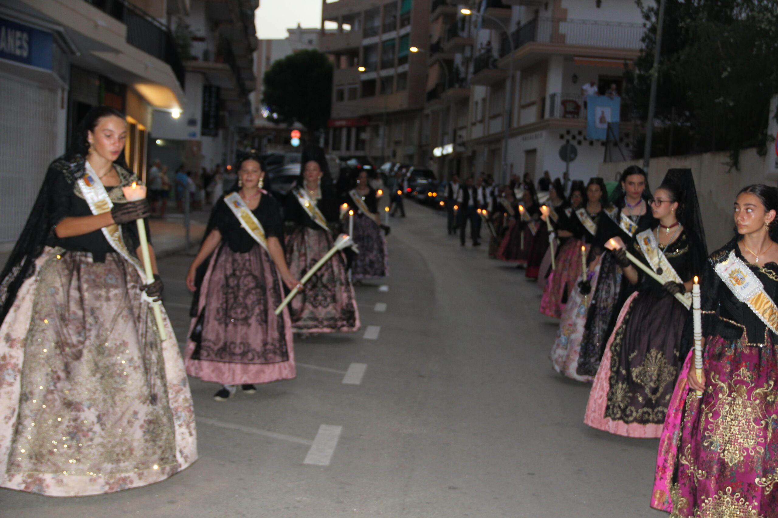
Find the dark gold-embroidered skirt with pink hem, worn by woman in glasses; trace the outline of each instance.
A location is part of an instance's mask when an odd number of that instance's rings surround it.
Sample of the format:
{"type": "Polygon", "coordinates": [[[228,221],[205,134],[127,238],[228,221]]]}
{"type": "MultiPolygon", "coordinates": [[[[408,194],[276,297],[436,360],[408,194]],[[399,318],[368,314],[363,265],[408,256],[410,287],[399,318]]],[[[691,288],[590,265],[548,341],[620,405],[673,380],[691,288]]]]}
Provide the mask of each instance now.
{"type": "Polygon", "coordinates": [[[594,377],[587,425],[627,437],[661,435],[688,316],[667,293],[643,291],[627,299],[594,377]]]}

